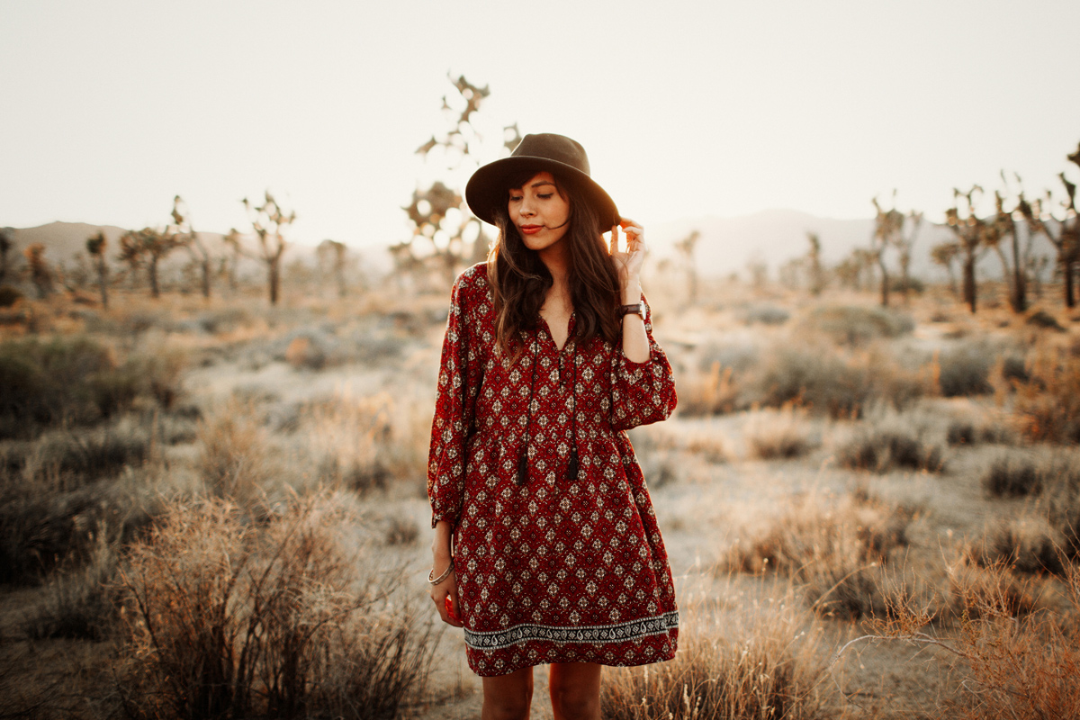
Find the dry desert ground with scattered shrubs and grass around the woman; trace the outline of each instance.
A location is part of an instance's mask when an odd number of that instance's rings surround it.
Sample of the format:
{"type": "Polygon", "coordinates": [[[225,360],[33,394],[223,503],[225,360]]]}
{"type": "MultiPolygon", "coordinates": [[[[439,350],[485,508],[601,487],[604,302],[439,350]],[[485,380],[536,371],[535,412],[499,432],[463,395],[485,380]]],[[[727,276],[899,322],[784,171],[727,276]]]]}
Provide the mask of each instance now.
{"type": "MultiPolygon", "coordinates": [[[[474,718],[427,597],[448,289],[0,309],[0,717],[474,718]]],[[[676,660],[606,718],[1080,717],[1080,311],[646,283],[676,660]]],[[[537,668],[534,717],[551,718],[537,668]]]]}

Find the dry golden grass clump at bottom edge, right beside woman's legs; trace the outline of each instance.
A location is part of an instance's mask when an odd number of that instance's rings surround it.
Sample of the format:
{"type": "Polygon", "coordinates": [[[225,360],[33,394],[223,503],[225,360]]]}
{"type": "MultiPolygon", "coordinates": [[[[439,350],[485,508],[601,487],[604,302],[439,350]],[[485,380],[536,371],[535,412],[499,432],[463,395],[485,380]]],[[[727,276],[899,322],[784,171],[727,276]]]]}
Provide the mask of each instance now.
{"type": "Polygon", "coordinates": [[[684,603],[674,660],[608,668],[609,720],[750,720],[825,717],[819,635],[794,597],[752,609],[684,603]],[[810,629],[808,630],[808,626],[810,629]]]}

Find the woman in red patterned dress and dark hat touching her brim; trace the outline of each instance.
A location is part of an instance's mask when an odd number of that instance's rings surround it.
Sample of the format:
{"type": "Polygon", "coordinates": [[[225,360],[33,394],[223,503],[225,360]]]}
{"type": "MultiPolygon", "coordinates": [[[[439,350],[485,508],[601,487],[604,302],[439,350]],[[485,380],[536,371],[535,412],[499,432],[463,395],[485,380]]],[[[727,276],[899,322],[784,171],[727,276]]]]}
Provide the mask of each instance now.
{"type": "Polygon", "coordinates": [[[592,720],[603,665],[670,660],[678,635],[624,432],[676,402],[640,291],[644,231],[561,135],[526,135],[465,199],[499,236],[454,285],[428,466],[431,597],[464,628],[485,720],[528,717],[539,664],[555,718],[592,720]]]}

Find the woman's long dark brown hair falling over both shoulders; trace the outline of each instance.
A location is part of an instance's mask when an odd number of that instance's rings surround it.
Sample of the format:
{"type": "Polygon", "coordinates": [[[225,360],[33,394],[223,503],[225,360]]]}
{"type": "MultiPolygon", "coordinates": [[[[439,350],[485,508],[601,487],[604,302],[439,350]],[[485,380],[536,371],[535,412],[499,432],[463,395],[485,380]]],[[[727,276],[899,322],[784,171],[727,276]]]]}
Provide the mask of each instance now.
{"type": "MultiPolygon", "coordinates": [[[[508,178],[507,190],[524,186],[536,171],[523,171],[508,178]]],[[[555,187],[570,205],[566,234],[569,258],[570,301],[578,318],[573,340],[582,343],[594,337],[615,344],[622,331],[616,309],[619,305],[619,273],[604,246],[596,212],[580,194],[555,176],[555,187]]],[[[508,195],[509,199],[509,195],[508,195]]],[[[503,202],[496,206],[499,236],[487,258],[487,277],[495,298],[496,342],[499,350],[515,357],[521,352],[518,332],[536,328],[540,308],[554,283],[540,256],[525,246],[503,202]]]]}

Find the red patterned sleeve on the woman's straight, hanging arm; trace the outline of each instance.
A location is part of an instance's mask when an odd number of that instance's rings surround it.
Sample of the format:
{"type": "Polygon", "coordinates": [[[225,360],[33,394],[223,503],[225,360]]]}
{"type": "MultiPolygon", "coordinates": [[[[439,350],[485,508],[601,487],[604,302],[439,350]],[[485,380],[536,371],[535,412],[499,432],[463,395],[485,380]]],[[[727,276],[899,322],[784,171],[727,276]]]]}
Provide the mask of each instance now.
{"type": "Polygon", "coordinates": [[[465,441],[473,424],[481,367],[469,341],[468,290],[470,272],[458,277],[450,296],[450,311],[438,370],[435,416],[428,453],[428,498],[431,527],[438,520],[457,525],[464,493],[465,441]]]}

